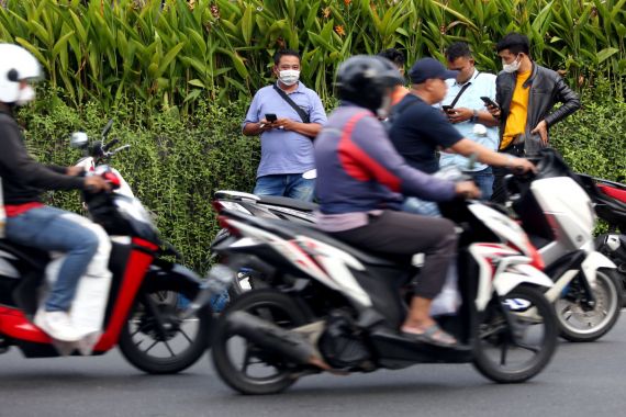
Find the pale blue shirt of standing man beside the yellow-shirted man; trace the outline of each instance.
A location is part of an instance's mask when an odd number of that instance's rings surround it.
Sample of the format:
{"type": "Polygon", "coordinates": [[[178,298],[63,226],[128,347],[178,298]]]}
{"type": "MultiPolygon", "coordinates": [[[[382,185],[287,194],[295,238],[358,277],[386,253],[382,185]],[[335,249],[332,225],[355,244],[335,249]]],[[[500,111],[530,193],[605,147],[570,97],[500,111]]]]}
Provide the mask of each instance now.
{"type": "MultiPolygon", "coordinates": [[[[481,97],[489,97],[491,100],[495,101],[495,76],[493,74],[479,72],[478,70],[474,70],[473,75],[467,82],[470,82],[470,86],[466,89],[466,91],[463,91],[459,100],[455,103],[455,108],[466,108],[483,111],[487,110],[487,108],[484,106],[483,101],[480,100],[481,97]]],[[[465,83],[459,84],[454,79],[446,80],[446,83],[448,84],[448,94],[441,104],[449,105],[455,100],[465,83]]],[[[452,126],[455,126],[463,137],[477,142],[489,149],[496,150],[499,143],[498,126],[484,126],[487,128],[487,134],[481,134],[474,133],[476,125],[477,123],[465,121],[461,123],[455,123],[452,126]]],[[[478,132],[479,129],[482,129],[482,127],[478,127],[476,129],[476,132],[478,132]]],[[[458,154],[441,153],[439,165],[441,168],[447,166],[456,166],[463,170],[470,170],[468,168],[468,158],[458,154]]],[[[482,171],[485,168],[487,165],[479,162],[476,164],[471,170],[482,171]]]]}

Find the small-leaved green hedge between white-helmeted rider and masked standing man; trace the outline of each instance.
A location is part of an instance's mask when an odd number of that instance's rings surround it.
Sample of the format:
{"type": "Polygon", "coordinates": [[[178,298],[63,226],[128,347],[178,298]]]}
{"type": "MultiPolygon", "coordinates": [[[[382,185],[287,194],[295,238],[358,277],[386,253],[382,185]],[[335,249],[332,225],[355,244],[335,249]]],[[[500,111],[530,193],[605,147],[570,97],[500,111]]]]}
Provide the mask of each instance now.
{"type": "MultiPolygon", "coordinates": [[[[200,103],[192,116],[172,108],[149,113],[138,102],[102,109],[89,103],[81,111],[48,92],[19,119],[30,151],[41,161],[72,165],[80,153],[69,148],[71,132],[85,131],[99,139],[108,119],[114,119],[110,138],[131,149],[118,154],[111,166],[120,170],[136,196],[156,214],[165,239],[198,271],[208,266],[209,246],[217,225],[211,200],[219,189],[251,191],[259,159],[259,140],[241,134],[247,104],[228,108],[200,103]]],[[[77,193],[52,192],[49,203],[79,211],[77,193]]]]}

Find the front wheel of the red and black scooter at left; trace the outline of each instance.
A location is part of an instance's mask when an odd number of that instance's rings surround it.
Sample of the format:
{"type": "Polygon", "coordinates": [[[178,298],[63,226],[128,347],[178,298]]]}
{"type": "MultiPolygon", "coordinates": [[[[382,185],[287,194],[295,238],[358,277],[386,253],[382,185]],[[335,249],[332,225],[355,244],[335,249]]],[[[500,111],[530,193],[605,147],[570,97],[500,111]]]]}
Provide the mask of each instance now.
{"type": "Polygon", "coordinates": [[[198,290],[192,282],[167,278],[144,283],[120,334],[120,350],[131,364],[152,374],[172,374],[191,367],[204,354],[211,340],[211,308],[202,308],[185,323],[179,318],[185,309],[181,304],[193,300],[198,290]],[[190,336],[182,326],[194,327],[195,331],[190,336]],[[145,337],[146,342],[137,342],[136,336],[145,337]],[[175,351],[181,345],[182,349],[175,351]],[[164,354],[156,356],[150,350],[164,354]]]}

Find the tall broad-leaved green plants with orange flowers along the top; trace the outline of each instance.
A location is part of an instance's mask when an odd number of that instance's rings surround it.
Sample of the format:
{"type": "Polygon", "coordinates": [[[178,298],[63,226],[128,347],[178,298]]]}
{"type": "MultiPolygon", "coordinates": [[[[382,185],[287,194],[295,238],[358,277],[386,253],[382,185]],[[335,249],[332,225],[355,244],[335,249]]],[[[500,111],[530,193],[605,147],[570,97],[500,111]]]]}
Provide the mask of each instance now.
{"type": "Polygon", "coordinates": [[[624,99],[626,0],[3,0],[0,41],[44,64],[74,105],[123,97],[183,113],[206,99],[227,103],[269,81],[271,56],[299,49],[303,81],[332,95],[350,55],[400,47],[407,61],[465,40],[479,67],[499,69],[493,46],[527,34],[533,56],[570,86],[611,80],[624,99]],[[165,4],[165,5],[164,5],[165,4]]]}

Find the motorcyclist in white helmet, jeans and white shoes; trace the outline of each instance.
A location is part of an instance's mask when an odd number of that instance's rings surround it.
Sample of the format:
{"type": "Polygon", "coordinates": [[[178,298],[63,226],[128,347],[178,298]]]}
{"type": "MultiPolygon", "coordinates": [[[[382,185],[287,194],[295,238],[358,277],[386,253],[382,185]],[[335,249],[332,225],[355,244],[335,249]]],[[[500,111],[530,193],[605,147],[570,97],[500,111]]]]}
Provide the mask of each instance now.
{"type": "MultiPolygon", "coordinates": [[[[35,57],[18,45],[0,44],[0,178],[5,237],[20,245],[66,253],[34,323],[57,340],[77,341],[81,335],[68,312],[78,281],[98,252],[104,232],[85,217],[44,205],[40,194],[42,190],[100,191],[110,185],[100,177],[78,177],[81,168],[44,166],[29,156],[13,111],[34,100],[30,82],[42,78],[42,70],[35,57]]],[[[105,269],[109,252],[98,256],[102,258],[98,259],[100,268],[105,269]]]]}

